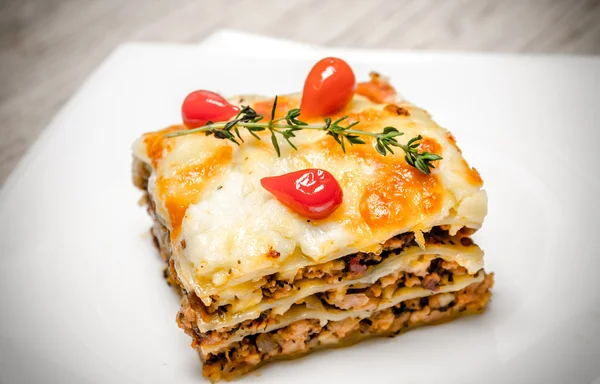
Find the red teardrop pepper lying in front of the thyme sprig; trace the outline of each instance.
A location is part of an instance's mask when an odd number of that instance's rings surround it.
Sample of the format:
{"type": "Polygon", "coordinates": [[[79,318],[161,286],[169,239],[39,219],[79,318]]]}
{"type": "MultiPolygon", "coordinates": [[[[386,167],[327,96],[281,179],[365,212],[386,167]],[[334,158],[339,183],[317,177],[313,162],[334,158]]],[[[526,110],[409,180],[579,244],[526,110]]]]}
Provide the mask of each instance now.
{"type": "Polygon", "coordinates": [[[311,219],[324,219],[342,204],[342,188],[331,173],[322,169],[265,177],[260,183],[285,206],[311,219]]]}

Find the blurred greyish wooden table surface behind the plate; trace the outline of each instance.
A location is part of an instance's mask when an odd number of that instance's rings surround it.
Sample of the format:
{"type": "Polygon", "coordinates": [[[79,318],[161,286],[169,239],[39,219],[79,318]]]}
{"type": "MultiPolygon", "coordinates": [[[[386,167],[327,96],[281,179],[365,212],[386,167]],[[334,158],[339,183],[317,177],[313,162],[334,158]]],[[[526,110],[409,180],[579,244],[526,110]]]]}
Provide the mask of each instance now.
{"type": "Polygon", "coordinates": [[[0,0],[0,184],[127,41],[219,28],[328,46],[600,54],[599,0],[0,0]]]}

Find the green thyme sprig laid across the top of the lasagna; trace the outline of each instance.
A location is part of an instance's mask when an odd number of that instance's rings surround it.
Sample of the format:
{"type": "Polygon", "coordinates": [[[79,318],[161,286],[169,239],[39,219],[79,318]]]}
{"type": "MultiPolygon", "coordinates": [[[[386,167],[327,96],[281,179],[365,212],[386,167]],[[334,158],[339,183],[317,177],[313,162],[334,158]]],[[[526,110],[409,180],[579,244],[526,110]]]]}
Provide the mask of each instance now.
{"type": "Polygon", "coordinates": [[[165,135],[165,137],[177,137],[204,132],[207,136],[214,135],[218,139],[230,140],[233,143],[240,145],[240,142],[244,142],[239,131],[240,127],[246,128],[246,130],[258,140],[261,138],[256,132],[268,130],[271,133],[271,142],[273,143],[275,152],[277,152],[277,156],[281,156],[281,148],[277,141],[277,135],[281,136],[292,148],[297,150],[298,148],[296,148],[292,142],[292,138],[296,137],[295,132],[313,129],[327,132],[327,135],[333,137],[333,139],[340,144],[344,153],[346,152],[347,143],[351,146],[355,144],[366,144],[360,136],[371,136],[375,138],[375,149],[383,156],[388,153],[393,154],[394,151],[392,150],[392,147],[401,148],[404,151],[404,159],[406,162],[425,174],[429,174],[431,169],[435,168],[431,163],[432,161],[442,159],[441,156],[436,155],[435,153],[419,152],[419,141],[423,139],[421,135],[413,137],[406,144],[400,144],[396,137],[402,136],[404,133],[398,131],[398,129],[394,127],[385,127],[383,131],[379,133],[352,129],[358,125],[359,122],[354,121],[348,123],[348,116],[340,117],[337,120],[326,117],[322,124],[308,124],[300,120],[300,109],[298,108],[291,109],[285,116],[276,119],[275,111],[277,109],[277,99],[277,96],[275,96],[273,107],[271,108],[270,119],[266,122],[262,121],[264,116],[256,113],[250,106],[242,106],[237,115],[230,121],[209,121],[202,127],[169,133],[165,135]]]}

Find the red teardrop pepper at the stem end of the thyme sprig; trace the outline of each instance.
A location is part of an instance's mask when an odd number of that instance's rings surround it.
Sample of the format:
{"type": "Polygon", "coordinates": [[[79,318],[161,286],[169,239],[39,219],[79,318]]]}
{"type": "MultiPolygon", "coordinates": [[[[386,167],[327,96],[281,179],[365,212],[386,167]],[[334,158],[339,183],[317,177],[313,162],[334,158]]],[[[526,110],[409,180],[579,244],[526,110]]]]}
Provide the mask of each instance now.
{"type": "Polygon", "coordinates": [[[229,104],[221,95],[211,91],[194,91],[181,105],[181,117],[188,128],[206,125],[208,121],[227,121],[240,109],[229,104]]]}

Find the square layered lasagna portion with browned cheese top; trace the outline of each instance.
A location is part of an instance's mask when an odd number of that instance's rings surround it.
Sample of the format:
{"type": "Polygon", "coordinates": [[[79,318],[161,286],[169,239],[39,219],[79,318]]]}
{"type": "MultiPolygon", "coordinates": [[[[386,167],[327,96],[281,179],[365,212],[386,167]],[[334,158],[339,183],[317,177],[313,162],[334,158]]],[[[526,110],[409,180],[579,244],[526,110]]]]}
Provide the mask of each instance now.
{"type": "MultiPolygon", "coordinates": [[[[236,97],[269,115],[273,99],[236,97]]],[[[275,116],[300,95],[279,97],[275,116]]],[[[477,171],[454,137],[407,101],[355,95],[333,116],[443,157],[425,174],[373,141],[346,146],[318,130],[296,132],[297,150],[277,156],[265,132],[240,132],[237,146],[214,135],[134,144],[134,181],[146,192],[152,233],[182,293],[177,322],[193,339],[211,380],[230,379],[276,358],[348,345],[482,311],[492,275],[471,235],[487,212],[477,171]],[[281,204],[261,178],[306,168],[335,176],[341,206],[311,220],[281,204]]],[[[322,120],[321,120],[322,121],[322,120]]],[[[400,152],[400,153],[398,153],[400,152]]]]}

